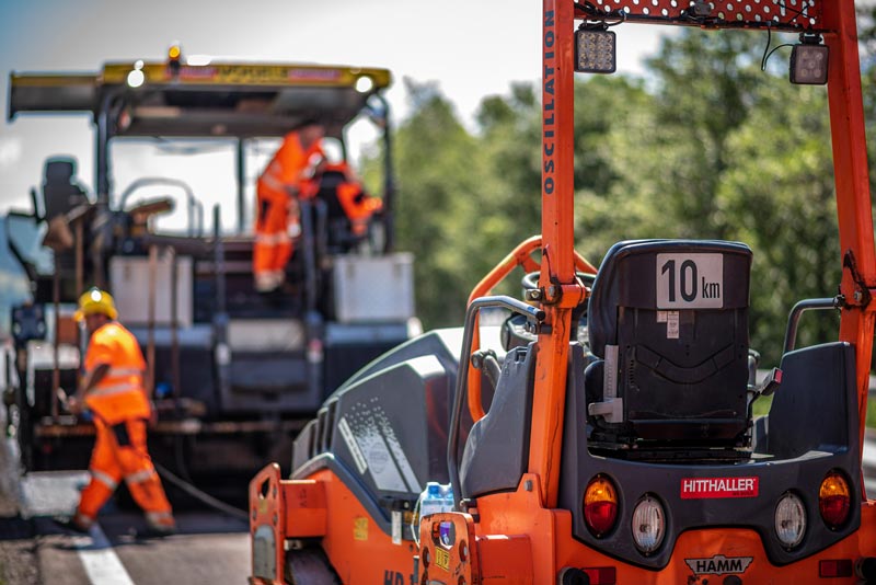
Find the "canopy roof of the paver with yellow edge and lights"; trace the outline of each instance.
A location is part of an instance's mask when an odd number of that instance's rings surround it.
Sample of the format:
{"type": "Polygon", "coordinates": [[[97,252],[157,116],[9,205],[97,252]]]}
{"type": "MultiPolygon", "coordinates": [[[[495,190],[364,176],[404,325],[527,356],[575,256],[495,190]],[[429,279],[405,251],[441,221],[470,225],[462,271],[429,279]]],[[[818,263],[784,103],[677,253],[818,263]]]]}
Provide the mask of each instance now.
{"type": "Polygon", "coordinates": [[[96,121],[107,110],[114,136],[281,136],[306,119],[337,135],[390,82],[373,68],[108,64],[99,74],[12,73],[8,115],[91,112],[96,121]],[[131,71],[141,73],[137,87],[131,71]]]}

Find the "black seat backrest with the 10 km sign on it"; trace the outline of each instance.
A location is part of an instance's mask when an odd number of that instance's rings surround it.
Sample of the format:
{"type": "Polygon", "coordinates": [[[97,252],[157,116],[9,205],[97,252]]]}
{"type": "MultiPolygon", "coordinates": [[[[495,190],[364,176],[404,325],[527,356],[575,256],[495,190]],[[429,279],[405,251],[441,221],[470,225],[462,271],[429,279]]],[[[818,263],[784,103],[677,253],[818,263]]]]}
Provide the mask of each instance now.
{"type": "Polygon", "coordinates": [[[737,242],[611,248],[588,308],[602,374],[587,385],[590,397],[620,398],[623,417],[597,424],[620,423],[631,440],[733,441],[745,432],[750,266],[751,250],[737,242]]]}

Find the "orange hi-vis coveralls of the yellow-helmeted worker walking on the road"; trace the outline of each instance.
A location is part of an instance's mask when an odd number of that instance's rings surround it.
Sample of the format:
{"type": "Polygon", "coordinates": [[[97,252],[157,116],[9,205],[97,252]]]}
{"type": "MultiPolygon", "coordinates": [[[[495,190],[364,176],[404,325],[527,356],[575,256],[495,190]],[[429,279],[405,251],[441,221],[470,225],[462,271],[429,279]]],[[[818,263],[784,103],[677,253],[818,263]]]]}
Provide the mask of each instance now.
{"type": "Polygon", "coordinates": [[[172,529],[171,505],[146,447],[151,413],[142,379],[146,360],[134,335],[115,321],[91,335],[85,369],[92,371],[100,364],[108,364],[110,369],[85,394],[97,438],[89,464],[91,482],[82,490],[74,519],[90,527],[118,482],[125,480],[147,523],[153,528],[172,529]]]}

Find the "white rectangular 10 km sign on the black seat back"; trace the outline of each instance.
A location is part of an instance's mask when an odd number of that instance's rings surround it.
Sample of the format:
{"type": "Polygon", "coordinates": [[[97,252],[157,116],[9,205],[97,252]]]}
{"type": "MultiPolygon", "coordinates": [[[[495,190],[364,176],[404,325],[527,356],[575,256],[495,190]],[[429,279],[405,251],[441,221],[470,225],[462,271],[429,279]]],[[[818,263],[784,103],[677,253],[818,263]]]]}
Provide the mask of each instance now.
{"type": "Polygon", "coordinates": [[[724,307],[723,254],[657,254],[658,309],[724,307]]]}

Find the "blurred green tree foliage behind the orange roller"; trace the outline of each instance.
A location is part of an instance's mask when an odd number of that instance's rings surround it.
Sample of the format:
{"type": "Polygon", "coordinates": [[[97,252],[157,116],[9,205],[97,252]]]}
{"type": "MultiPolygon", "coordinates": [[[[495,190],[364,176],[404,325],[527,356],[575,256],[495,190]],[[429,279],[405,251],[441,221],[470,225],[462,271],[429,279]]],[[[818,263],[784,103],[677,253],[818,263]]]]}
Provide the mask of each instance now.
{"type": "MultiPolygon", "coordinates": [[[[864,49],[874,31],[862,26],[864,49]]],[[[788,49],[762,71],[765,43],[684,30],[664,41],[644,79],[577,79],[575,225],[578,250],[596,263],[631,238],[748,243],[752,346],[774,364],[794,302],[835,294],[840,251],[826,91],[787,82],[788,49]]],[[[872,126],[866,51],[864,64],[872,126]]],[[[486,97],[474,130],[434,87],[408,82],[408,92],[413,113],[395,135],[397,248],[417,255],[424,323],[458,325],[477,280],[541,231],[541,89],[517,83],[486,97]]],[[[835,331],[835,318],[807,314],[799,343],[835,331]]]]}

